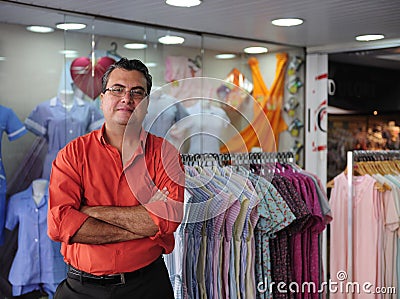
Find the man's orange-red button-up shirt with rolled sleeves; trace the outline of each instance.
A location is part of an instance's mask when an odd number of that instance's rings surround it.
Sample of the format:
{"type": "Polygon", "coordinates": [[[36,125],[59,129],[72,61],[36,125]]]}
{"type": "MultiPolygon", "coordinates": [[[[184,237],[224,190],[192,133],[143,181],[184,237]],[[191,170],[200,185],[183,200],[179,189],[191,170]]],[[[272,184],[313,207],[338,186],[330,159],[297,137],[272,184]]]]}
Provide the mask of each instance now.
{"type": "Polygon", "coordinates": [[[95,275],[131,272],[173,250],[185,184],[179,152],[164,139],[142,130],[140,146],[122,165],[103,130],[73,140],[58,153],[49,185],[48,235],[62,242],[66,263],[95,275]],[[88,206],[136,206],[164,187],[172,200],[145,205],[159,227],[155,236],[102,245],[70,243],[88,218],[79,211],[83,199],[88,206]]]}

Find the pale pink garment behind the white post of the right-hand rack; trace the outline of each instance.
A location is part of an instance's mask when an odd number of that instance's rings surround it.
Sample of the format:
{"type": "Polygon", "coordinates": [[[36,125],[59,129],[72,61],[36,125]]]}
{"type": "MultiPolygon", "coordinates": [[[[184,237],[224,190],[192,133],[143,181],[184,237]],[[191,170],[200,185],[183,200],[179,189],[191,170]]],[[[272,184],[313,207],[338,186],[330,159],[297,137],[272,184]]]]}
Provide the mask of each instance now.
{"type": "MultiPolygon", "coordinates": [[[[331,191],[331,222],[330,239],[330,273],[332,281],[345,284],[347,280],[339,280],[340,273],[346,272],[351,282],[360,285],[368,282],[374,287],[381,286],[381,227],[382,194],[375,189],[376,180],[370,175],[353,178],[353,212],[352,212],[352,268],[348,268],[348,182],[342,172],[334,178],[331,191]],[[368,232],[368,233],[366,233],[368,232]],[[351,271],[351,272],[350,272],[351,271]]],[[[336,292],[330,298],[346,298],[344,292],[336,292]]],[[[378,294],[362,292],[354,294],[353,298],[380,298],[378,294]]]]}

